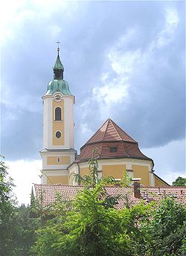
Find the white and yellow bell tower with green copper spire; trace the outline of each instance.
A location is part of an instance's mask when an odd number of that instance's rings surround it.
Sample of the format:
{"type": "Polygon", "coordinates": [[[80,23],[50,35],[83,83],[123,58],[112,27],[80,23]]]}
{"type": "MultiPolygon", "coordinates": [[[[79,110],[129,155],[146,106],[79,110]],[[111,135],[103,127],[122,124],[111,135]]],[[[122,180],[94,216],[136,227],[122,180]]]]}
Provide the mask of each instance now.
{"type": "Polygon", "coordinates": [[[53,66],[54,79],[48,83],[43,103],[42,183],[69,183],[68,165],[74,160],[74,102],[68,83],[63,79],[64,67],[57,48],[53,66]]]}

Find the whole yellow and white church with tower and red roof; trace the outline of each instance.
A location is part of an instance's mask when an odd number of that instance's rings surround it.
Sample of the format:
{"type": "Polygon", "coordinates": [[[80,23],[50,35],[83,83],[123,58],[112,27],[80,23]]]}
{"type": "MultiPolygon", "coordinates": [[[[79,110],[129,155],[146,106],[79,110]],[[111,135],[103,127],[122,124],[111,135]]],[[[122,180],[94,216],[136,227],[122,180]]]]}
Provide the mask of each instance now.
{"type": "MultiPolygon", "coordinates": [[[[143,186],[169,186],[154,173],[153,159],[145,156],[138,142],[121,127],[108,118],[100,129],[80,148],[80,155],[74,149],[74,103],[68,83],[63,79],[64,67],[57,48],[54,63],[54,79],[48,83],[42,96],[43,103],[43,185],[78,185],[73,173],[89,175],[89,159],[97,150],[100,178],[114,177],[120,181],[124,173],[143,186]]],[[[78,129],[78,127],[77,127],[78,129]]]]}

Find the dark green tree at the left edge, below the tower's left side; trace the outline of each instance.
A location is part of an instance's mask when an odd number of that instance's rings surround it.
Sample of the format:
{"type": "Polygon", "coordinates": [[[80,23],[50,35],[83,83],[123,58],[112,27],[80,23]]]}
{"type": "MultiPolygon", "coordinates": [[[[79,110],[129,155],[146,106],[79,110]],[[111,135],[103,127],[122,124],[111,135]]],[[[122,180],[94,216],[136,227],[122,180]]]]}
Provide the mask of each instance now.
{"type": "Polygon", "coordinates": [[[30,207],[18,206],[13,196],[13,179],[4,158],[0,161],[0,255],[28,256],[36,240],[40,218],[30,218],[30,207]]]}

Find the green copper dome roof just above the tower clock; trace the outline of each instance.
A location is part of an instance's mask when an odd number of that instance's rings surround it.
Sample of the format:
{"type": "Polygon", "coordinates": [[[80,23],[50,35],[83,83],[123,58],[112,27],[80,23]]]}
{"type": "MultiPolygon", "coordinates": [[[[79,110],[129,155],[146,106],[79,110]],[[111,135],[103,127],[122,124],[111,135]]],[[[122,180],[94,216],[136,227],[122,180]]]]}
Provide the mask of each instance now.
{"type": "Polygon", "coordinates": [[[54,92],[62,92],[63,95],[71,95],[68,83],[64,79],[54,79],[48,83],[47,92],[45,95],[53,95],[54,92]]]}

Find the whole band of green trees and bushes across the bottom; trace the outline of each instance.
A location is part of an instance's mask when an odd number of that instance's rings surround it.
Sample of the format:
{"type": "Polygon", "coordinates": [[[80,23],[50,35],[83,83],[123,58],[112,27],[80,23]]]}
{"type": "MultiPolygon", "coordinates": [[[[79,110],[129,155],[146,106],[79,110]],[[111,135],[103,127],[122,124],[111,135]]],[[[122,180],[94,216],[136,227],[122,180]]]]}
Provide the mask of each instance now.
{"type": "MultiPolygon", "coordinates": [[[[186,255],[185,206],[169,196],[148,205],[126,203],[118,210],[119,196],[109,196],[105,189],[112,177],[99,179],[95,156],[89,169],[89,176],[81,178],[85,187],[73,202],[56,194],[56,202],[45,206],[41,193],[31,208],[18,207],[1,161],[0,255],[186,255]]],[[[129,182],[124,173],[121,185],[129,182]]]]}

